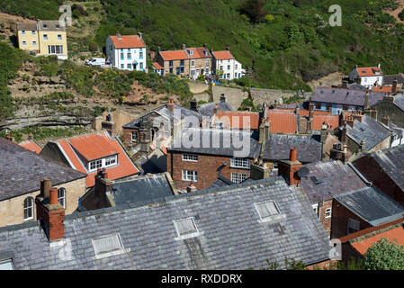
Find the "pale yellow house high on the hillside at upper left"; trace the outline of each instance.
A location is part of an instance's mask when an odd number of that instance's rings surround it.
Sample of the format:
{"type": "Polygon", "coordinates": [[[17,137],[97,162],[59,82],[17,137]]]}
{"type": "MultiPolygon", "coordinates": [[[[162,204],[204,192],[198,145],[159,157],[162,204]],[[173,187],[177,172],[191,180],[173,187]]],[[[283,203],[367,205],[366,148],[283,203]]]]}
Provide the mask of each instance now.
{"type": "Polygon", "coordinates": [[[18,46],[34,55],[67,59],[67,34],[58,21],[18,23],[18,46]]]}

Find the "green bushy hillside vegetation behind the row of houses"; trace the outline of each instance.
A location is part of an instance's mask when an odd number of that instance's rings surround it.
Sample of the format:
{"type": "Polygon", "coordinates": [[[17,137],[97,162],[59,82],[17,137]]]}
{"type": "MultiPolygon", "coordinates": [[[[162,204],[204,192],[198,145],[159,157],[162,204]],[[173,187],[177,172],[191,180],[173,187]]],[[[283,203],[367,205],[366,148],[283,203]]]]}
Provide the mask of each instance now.
{"type": "MultiPolygon", "coordinates": [[[[33,18],[58,14],[61,1],[2,1],[0,10],[33,18]],[[38,4],[31,5],[32,2],[38,4]],[[46,7],[46,8],[45,8],[46,7]]],[[[80,2],[76,2],[80,5],[80,2]]],[[[88,2],[89,3],[89,2],[88,2]]],[[[93,2],[94,3],[94,2],[93,2]]],[[[179,49],[207,43],[230,47],[252,73],[242,85],[305,89],[305,82],[347,73],[355,64],[382,64],[386,73],[404,65],[403,25],[383,10],[393,0],[340,0],[342,26],[331,27],[332,0],[100,0],[99,27],[91,46],[102,50],[107,35],[142,31],[149,49],[179,49]]],[[[85,7],[86,4],[83,2],[85,7]]],[[[76,15],[81,17],[80,14],[76,15]]],[[[53,17],[53,18],[57,18],[53,17]]]]}

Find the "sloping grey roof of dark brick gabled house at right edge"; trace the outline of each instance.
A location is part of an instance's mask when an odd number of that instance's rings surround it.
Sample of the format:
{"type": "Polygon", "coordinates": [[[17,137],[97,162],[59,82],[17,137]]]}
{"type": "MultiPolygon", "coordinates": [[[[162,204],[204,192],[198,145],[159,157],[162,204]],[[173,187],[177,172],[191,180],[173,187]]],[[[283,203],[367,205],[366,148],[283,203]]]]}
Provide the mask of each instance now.
{"type": "Polygon", "coordinates": [[[373,157],[384,173],[404,191],[404,145],[378,150],[363,157],[373,157]]]}

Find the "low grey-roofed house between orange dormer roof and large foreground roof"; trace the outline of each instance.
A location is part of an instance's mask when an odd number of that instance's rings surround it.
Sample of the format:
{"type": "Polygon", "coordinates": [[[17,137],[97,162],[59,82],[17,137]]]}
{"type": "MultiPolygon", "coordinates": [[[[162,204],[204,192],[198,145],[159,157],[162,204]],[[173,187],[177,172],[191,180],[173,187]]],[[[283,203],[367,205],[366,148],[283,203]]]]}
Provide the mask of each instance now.
{"type": "Polygon", "coordinates": [[[95,175],[95,185],[81,198],[78,211],[97,210],[178,194],[168,173],[108,178],[106,170],[95,175]]]}

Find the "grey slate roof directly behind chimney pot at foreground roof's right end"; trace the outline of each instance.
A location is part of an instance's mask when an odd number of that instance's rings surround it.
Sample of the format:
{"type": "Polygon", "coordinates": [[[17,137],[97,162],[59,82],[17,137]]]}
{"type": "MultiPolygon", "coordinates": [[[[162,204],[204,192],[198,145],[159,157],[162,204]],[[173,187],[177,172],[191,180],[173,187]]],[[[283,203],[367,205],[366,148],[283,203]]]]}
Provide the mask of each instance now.
{"type": "Polygon", "coordinates": [[[291,148],[297,148],[298,160],[303,163],[321,160],[321,143],[309,135],[270,134],[265,142],[265,160],[288,160],[291,148]]]}

